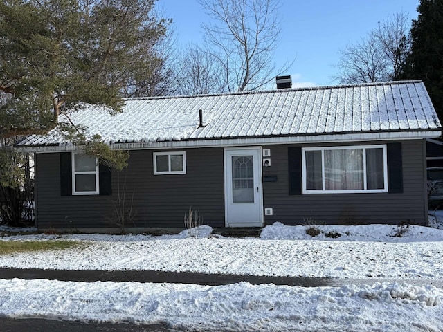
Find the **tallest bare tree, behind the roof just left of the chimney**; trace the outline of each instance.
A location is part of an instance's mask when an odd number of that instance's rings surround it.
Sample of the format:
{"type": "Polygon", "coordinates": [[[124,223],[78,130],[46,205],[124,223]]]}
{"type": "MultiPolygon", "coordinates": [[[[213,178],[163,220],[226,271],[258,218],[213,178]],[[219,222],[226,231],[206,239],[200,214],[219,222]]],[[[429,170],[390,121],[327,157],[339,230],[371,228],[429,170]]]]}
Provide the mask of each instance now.
{"type": "MultiPolygon", "coordinates": [[[[275,77],[280,0],[199,0],[213,23],[204,24],[210,56],[225,90],[259,89],[275,77]]],[[[289,68],[289,66],[287,66],[289,68]]],[[[287,68],[284,68],[286,70],[287,68]]]]}

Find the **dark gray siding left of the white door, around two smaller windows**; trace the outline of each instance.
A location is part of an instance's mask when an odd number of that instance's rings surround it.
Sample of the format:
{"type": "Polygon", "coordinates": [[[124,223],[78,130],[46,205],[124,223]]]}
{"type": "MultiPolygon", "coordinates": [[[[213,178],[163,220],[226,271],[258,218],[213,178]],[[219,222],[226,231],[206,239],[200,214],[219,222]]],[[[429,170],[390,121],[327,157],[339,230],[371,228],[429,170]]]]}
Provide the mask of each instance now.
{"type": "Polygon", "coordinates": [[[223,149],[180,151],[186,151],[187,172],[174,175],[154,175],[154,150],[130,151],[129,166],[111,172],[111,196],[60,196],[60,154],[37,154],[37,226],[116,227],[109,219],[124,195],[125,209],[134,212],[128,227],[181,228],[190,206],[204,223],[223,226],[223,149]]]}

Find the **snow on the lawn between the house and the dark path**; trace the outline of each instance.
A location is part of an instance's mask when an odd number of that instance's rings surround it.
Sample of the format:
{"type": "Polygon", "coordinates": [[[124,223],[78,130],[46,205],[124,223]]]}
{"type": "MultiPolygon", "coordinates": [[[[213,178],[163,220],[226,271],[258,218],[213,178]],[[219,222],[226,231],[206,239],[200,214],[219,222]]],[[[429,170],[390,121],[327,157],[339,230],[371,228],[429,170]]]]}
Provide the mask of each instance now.
{"type": "Polygon", "coordinates": [[[264,228],[261,239],[210,236],[211,228],[177,235],[19,235],[17,239],[76,239],[86,248],[0,256],[0,267],[62,270],[161,270],[235,275],[333,278],[436,279],[443,276],[443,231],[410,226],[392,237],[397,226],[307,226],[281,223],[264,228]],[[341,234],[327,237],[326,234],[341,234]],[[297,241],[294,241],[296,239],[297,241]]]}

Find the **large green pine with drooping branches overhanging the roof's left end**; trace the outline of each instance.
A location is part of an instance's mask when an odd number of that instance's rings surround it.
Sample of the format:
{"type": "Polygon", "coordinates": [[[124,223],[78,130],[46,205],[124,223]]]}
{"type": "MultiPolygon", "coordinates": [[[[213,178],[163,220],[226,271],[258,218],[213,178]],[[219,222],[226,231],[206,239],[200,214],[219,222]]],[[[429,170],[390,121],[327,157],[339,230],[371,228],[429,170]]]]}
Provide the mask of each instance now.
{"type": "MultiPolygon", "coordinates": [[[[0,138],[45,133],[82,103],[120,111],[124,96],[159,93],[156,45],[169,21],[153,14],[155,1],[1,1],[0,138]]],[[[87,152],[125,165],[100,137],[64,129],[87,152]]]]}

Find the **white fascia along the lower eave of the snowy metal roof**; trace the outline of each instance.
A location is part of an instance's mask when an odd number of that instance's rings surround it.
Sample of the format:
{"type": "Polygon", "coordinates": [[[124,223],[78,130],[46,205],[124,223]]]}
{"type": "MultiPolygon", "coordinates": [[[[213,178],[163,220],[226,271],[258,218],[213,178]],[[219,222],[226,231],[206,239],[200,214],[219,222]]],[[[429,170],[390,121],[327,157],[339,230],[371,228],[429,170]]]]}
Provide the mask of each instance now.
{"type": "MultiPolygon", "coordinates": [[[[361,142],[368,140],[416,140],[422,138],[437,138],[442,131],[392,131],[381,133],[343,133],[305,136],[271,136],[257,138],[221,138],[214,140],[177,140],[165,142],[128,142],[111,143],[111,149],[138,150],[138,149],[183,149],[196,147],[236,147],[253,145],[278,145],[301,143],[329,143],[329,142],[361,142]]],[[[81,147],[75,145],[45,145],[40,147],[16,147],[20,152],[44,153],[77,151],[81,147]]]]}

